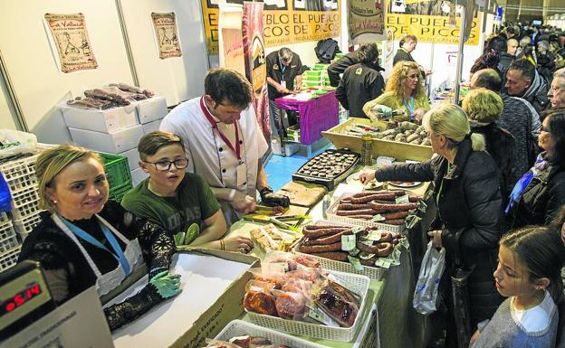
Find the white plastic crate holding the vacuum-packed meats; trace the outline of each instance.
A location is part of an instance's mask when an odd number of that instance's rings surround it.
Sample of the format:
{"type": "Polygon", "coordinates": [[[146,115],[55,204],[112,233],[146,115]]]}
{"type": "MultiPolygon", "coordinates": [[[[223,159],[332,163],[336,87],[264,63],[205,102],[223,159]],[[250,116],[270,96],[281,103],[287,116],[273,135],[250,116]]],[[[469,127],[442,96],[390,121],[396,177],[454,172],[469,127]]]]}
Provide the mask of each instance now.
{"type": "Polygon", "coordinates": [[[325,340],[350,342],[353,340],[359,325],[361,325],[361,317],[365,311],[365,306],[367,306],[365,300],[367,298],[367,291],[369,290],[370,279],[367,276],[359,276],[357,274],[337,271],[330,271],[330,273],[348,282],[352,287],[350,290],[361,296],[362,300],[359,306],[359,314],[351,327],[331,327],[323,324],[304,323],[282,319],[272,315],[259,315],[253,312],[247,312],[249,319],[254,322],[254,324],[268,327],[276,331],[283,331],[288,334],[302,334],[325,340]]]}

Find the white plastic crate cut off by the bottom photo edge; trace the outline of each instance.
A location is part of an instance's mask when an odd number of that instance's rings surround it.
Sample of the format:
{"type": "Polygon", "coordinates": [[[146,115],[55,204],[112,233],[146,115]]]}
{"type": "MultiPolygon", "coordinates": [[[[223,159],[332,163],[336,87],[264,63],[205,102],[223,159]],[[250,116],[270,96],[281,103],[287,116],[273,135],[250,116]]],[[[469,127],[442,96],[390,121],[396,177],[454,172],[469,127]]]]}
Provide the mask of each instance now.
{"type": "Polygon", "coordinates": [[[244,336],[246,334],[259,336],[268,339],[273,343],[274,347],[285,345],[292,348],[324,348],[325,345],[311,343],[306,340],[291,336],[290,334],[282,334],[266,327],[257,326],[255,324],[244,322],[243,320],[233,320],[225,325],[225,328],[215,336],[215,340],[229,342],[234,337],[244,336]]]}

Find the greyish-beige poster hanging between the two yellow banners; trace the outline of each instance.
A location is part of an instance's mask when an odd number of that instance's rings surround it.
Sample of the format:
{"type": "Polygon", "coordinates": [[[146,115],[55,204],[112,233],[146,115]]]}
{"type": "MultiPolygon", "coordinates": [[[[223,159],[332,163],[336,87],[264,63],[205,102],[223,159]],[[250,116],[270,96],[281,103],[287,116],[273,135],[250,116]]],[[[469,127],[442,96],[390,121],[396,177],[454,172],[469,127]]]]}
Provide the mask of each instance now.
{"type": "Polygon", "coordinates": [[[384,40],[384,0],[350,0],[347,3],[350,44],[384,40]]]}

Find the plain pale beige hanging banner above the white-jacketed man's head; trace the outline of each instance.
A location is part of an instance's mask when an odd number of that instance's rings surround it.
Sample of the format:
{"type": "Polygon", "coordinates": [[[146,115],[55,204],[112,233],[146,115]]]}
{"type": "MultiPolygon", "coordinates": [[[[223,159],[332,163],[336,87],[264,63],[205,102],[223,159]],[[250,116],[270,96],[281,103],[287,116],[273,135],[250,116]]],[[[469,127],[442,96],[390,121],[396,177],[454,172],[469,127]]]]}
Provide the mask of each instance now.
{"type": "Polygon", "coordinates": [[[220,67],[245,74],[244,37],[242,33],[242,5],[219,6],[219,59],[220,67]]]}

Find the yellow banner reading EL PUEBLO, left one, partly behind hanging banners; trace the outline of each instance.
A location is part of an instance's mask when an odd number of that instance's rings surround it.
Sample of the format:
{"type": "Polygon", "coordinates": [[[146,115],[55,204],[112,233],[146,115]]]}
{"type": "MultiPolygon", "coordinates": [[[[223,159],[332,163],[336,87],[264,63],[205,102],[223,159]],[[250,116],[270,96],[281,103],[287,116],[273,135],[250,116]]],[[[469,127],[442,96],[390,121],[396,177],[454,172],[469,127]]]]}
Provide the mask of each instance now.
{"type": "MultiPolygon", "coordinates": [[[[311,42],[340,36],[341,0],[259,0],[263,5],[266,47],[311,42]]],[[[218,5],[243,4],[243,0],[202,0],[206,45],[218,52],[218,5]]]]}

